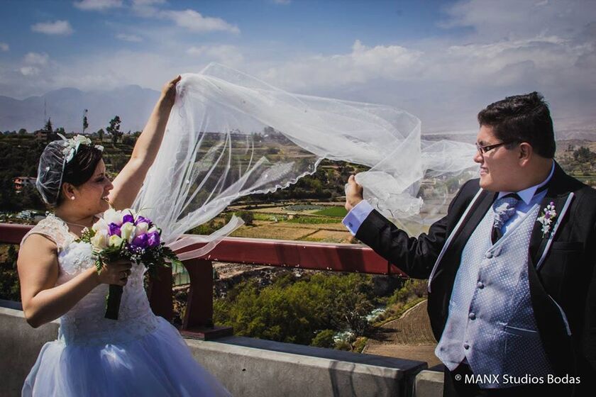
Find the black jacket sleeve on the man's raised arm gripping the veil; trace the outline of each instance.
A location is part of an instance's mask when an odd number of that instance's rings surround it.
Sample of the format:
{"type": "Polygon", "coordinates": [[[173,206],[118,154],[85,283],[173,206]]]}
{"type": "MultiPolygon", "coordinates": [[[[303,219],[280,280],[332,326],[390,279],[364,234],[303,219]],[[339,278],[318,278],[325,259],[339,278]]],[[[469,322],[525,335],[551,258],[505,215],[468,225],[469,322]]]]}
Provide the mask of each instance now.
{"type": "Polygon", "coordinates": [[[356,238],[373,248],[377,254],[402,269],[414,279],[428,279],[434,263],[443,248],[448,236],[450,219],[458,220],[462,208],[464,191],[469,191],[470,181],[466,182],[458,194],[449,204],[447,215],[431,225],[429,233],[422,233],[419,237],[409,235],[397,228],[390,220],[374,210],[364,220],[356,238]]]}

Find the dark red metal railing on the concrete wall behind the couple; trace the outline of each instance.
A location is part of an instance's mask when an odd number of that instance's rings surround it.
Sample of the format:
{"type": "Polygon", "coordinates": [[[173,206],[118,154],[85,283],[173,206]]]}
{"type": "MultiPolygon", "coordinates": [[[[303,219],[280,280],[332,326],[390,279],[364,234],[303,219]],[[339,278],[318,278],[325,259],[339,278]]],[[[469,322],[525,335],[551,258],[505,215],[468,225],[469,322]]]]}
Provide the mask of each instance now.
{"type": "MultiPolygon", "coordinates": [[[[31,226],[28,225],[0,223],[0,242],[18,244],[30,229],[31,226]]],[[[201,244],[191,245],[180,252],[199,247],[201,244]]],[[[216,327],[212,320],[214,261],[405,276],[393,264],[363,245],[226,237],[205,257],[183,262],[190,276],[190,290],[181,330],[185,335],[211,339],[231,333],[231,328],[216,327]]],[[[158,278],[150,284],[148,295],[153,312],[171,320],[170,269],[161,269],[158,272],[158,278]]]]}

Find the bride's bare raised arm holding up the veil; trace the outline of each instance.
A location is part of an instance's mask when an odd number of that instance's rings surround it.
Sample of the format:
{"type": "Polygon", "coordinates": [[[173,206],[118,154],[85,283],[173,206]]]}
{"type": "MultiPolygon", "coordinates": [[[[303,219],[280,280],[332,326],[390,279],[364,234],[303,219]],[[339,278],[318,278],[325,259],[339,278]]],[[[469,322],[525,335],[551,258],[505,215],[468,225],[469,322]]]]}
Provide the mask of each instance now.
{"type": "Polygon", "coordinates": [[[131,207],[140,187],[143,186],[145,175],[158,155],[165,125],[174,106],[178,82],[180,76],[163,86],[160,99],[155,104],[143,133],[138,137],[131,159],[114,179],[114,189],[110,191],[108,198],[111,206],[116,209],[131,207]]]}

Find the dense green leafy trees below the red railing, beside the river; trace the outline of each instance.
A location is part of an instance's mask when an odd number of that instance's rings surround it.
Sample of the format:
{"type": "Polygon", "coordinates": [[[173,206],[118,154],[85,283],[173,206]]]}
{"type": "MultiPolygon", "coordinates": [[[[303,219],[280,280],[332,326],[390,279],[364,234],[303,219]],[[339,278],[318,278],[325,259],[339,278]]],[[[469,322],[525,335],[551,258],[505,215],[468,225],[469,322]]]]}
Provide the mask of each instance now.
{"type": "Polygon", "coordinates": [[[233,326],[236,335],[329,346],[333,330],[368,332],[375,298],[370,276],[285,273],[264,288],[255,279],[235,286],[214,301],[214,321],[233,326]]]}

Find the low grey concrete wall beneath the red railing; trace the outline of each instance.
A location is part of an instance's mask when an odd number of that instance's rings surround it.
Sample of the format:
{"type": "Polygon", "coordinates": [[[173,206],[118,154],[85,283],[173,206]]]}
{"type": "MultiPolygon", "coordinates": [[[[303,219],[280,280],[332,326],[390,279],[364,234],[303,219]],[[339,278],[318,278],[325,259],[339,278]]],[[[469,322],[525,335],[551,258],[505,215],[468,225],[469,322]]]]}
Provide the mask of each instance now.
{"type": "MultiPolygon", "coordinates": [[[[0,396],[20,395],[40,348],[56,335],[57,323],[33,329],[21,311],[0,307],[0,396]]],[[[442,395],[442,374],[420,372],[424,362],[246,337],[186,341],[233,396],[412,396],[414,387],[419,397],[442,395]]]]}

